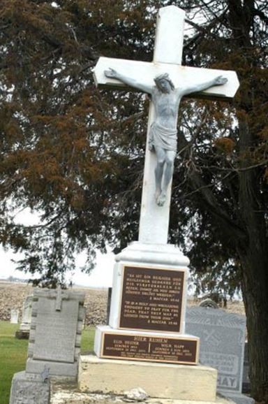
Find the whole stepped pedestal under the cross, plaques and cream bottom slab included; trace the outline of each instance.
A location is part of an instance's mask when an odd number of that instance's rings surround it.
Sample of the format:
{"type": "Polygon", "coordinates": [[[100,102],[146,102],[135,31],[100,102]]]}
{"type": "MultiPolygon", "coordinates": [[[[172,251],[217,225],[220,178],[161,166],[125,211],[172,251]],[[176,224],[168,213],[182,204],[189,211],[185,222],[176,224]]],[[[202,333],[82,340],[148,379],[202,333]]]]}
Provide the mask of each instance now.
{"type": "MultiPolygon", "coordinates": [[[[185,333],[188,259],[174,245],[131,243],[116,257],[110,319],[96,329],[96,356],[80,356],[81,394],[216,403],[217,370],[198,365],[198,337],[185,333]]],[[[87,401],[85,401],[87,402],[87,401]]]]}

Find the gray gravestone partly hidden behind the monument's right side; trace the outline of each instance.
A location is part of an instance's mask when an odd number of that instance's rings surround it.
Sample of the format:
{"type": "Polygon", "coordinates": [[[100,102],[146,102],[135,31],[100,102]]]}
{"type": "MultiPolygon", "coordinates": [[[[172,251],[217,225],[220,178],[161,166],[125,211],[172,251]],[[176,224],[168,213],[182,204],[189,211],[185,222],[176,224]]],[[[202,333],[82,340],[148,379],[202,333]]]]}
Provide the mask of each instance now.
{"type": "Polygon", "coordinates": [[[236,403],[253,403],[241,394],[246,317],[219,309],[188,307],[186,332],[200,337],[200,363],[218,370],[218,391],[236,403]]]}

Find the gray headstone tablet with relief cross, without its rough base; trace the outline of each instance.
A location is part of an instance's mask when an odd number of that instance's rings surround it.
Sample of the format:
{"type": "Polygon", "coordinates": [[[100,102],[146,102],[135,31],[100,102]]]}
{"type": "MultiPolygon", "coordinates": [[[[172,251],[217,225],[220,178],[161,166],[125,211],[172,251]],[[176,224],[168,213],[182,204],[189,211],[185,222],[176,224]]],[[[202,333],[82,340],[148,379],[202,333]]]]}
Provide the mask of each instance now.
{"type": "Polygon", "coordinates": [[[80,354],[84,294],[61,289],[34,291],[26,370],[76,377],[80,354]]]}

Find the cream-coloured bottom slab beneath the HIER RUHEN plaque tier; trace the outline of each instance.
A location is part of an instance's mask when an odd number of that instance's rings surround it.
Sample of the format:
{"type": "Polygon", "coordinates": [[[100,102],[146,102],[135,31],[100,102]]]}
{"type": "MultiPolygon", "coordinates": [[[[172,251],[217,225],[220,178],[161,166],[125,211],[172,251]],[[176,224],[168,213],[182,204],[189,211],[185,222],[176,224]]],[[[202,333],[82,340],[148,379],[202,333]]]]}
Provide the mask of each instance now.
{"type": "Polygon", "coordinates": [[[151,398],[188,401],[216,399],[217,370],[207,366],[174,365],[100,359],[81,355],[78,386],[81,392],[124,394],[141,387],[151,398]]]}

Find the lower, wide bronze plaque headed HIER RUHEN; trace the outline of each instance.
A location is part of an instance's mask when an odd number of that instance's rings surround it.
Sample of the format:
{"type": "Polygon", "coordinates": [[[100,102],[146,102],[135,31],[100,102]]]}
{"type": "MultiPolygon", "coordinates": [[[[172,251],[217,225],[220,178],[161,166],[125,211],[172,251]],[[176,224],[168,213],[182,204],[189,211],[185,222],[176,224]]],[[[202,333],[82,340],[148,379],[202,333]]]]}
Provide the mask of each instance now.
{"type": "Polygon", "coordinates": [[[198,363],[198,338],[104,333],[101,357],[195,365],[198,363]]]}

